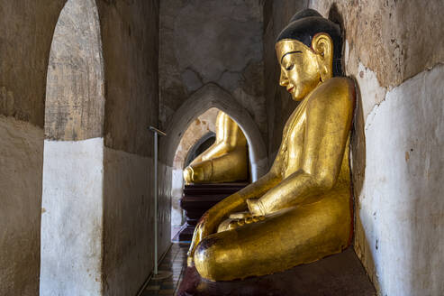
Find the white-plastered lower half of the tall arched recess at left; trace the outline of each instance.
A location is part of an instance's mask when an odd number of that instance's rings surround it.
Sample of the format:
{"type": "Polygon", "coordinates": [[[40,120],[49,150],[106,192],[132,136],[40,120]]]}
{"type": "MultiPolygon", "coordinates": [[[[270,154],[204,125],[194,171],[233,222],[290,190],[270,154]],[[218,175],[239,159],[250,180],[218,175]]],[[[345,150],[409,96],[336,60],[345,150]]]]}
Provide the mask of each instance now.
{"type": "Polygon", "coordinates": [[[100,295],[104,140],[45,140],[41,295],[100,295]]]}

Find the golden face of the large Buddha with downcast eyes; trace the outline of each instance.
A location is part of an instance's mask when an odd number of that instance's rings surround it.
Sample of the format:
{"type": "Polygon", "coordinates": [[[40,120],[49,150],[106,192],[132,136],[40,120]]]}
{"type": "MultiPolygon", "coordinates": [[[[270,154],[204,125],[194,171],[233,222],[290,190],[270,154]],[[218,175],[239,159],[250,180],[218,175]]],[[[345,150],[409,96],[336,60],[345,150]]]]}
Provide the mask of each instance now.
{"type": "MultiPolygon", "coordinates": [[[[316,42],[316,38],[313,42],[316,42]]],[[[326,57],[329,54],[331,52],[325,52],[323,44],[321,51],[316,51],[293,39],[277,42],[276,55],[281,66],[279,84],[294,100],[304,99],[320,82],[331,78],[331,59],[326,57]],[[326,65],[325,58],[328,58],[326,65]]]]}

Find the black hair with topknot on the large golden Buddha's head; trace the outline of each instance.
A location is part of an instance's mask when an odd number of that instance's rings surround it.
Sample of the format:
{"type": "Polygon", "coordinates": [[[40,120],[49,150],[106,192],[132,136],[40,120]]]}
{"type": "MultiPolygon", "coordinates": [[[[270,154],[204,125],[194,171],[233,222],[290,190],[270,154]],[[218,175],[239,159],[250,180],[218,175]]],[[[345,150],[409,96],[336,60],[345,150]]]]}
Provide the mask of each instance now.
{"type": "Polygon", "coordinates": [[[314,9],[304,9],[294,14],[290,23],[277,36],[276,42],[283,39],[294,39],[311,48],[313,37],[322,32],[328,33],[333,42],[333,76],[343,76],[340,25],[322,17],[314,9]]]}

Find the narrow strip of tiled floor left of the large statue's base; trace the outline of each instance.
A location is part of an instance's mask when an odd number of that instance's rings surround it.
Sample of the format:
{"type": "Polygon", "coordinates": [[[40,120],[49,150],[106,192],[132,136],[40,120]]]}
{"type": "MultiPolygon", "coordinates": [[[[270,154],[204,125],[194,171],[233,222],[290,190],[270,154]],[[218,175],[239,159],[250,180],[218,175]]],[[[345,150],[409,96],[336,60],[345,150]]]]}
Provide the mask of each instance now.
{"type": "Polygon", "coordinates": [[[188,247],[188,244],[171,245],[171,248],[159,265],[159,271],[170,272],[172,273],[171,276],[165,280],[150,280],[141,296],[173,296],[177,294],[177,287],[182,282],[186,269],[186,252],[188,247]]]}

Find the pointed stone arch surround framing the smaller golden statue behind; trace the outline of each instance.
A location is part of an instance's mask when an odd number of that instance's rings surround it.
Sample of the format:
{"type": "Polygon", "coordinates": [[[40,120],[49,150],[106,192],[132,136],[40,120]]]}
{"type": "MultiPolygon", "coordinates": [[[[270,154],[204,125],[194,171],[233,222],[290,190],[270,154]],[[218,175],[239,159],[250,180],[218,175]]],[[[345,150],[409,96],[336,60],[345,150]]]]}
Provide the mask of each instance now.
{"type": "Polygon", "coordinates": [[[186,153],[208,132],[205,128],[195,128],[193,131],[188,131],[188,129],[195,125],[196,121],[200,126],[203,126],[201,116],[207,115],[206,117],[208,117],[209,113],[213,113],[214,125],[218,111],[223,111],[231,116],[240,125],[248,140],[251,180],[257,180],[267,170],[267,149],[258,126],[249,113],[230,94],[214,84],[208,84],[196,91],[172,116],[173,120],[168,125],[167,137],[161,139],[162,142],[160,142],[160,146],[165,147],[160,152],[160,158],[162,162],[172,168],[170,179],[172,236],[178,231],[177,223],[181,221],[182,217],[179,199],[183,192],[182,171],[186,161],[186,153]],[[186,135],[186,133],[190,133],[190,135],[186,135]],[[184,141],[185,138],[186,141],[184,141]]]}

